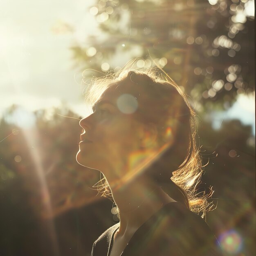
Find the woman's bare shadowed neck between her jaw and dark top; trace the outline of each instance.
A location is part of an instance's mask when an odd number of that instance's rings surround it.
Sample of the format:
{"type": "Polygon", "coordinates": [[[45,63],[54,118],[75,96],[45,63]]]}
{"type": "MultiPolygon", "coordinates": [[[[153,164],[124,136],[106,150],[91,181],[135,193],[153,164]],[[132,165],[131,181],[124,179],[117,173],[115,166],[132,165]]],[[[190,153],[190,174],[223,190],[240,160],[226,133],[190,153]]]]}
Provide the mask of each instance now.
{"type": "Polygon", "coordinates": [[[159,186],[142,175],[120,189],[112,189],[112,195],[119,209],[119,236],[133,234],[163,205],[174,202],[159,186]]]}

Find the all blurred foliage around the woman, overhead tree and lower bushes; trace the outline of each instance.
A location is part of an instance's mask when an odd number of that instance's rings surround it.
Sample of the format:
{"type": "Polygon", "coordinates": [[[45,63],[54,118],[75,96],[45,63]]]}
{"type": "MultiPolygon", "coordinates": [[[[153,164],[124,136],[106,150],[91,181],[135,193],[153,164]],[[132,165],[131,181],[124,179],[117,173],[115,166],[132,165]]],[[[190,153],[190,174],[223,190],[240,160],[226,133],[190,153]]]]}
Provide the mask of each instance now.
{"type": "MultiPolygon", "coordinates": [[[[70,47],[74,64],[104,73],[141,56],[136,67],[162,67],[191,96],[201,117],[212,108],[228,109],[238,94],[255,90],[254,17],[246,11],[249,2],[97,1],[89,11],[101,34],[70,47]]],[[[84,79],[90,75],[85,72],[84,79]]],[[[79,120],[59,114],[79,119],[65,106],[34,113],[13,106],[0,119],[1,255],[57,255],[50,246],[54,236],[59,255],[90,255],[92,242],[112,225],[112,203],[99,203],[92,189],[99,173],[75,161],[79,120]]],[[[206,164],[199,190],[212,185],[218,206],[208,213],[207,222],[218,238],[225,231],[237,231],[243,238],[240,254],[253,255],[251,127],[231,120],[214,130],[202,118],[199,136],[206,164]]]]}

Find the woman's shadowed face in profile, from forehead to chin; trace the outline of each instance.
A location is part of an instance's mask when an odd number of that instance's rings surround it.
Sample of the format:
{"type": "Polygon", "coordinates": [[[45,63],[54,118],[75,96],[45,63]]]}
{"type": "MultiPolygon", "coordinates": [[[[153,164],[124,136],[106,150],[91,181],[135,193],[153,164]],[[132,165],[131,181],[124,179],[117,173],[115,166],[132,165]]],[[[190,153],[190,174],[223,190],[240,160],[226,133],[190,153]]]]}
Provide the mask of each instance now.
{"type": "Polygon", "coordinates": [[[118,178],[139,153],[141,123],[135,119],[137,99],[111,86],[94,105],[93,114],[82,119],[77,162],[118,178]],[[106,173],[111,171],[111,174],[106,173]],[[113,173],[114,172],[114,173],[113,173]]]}

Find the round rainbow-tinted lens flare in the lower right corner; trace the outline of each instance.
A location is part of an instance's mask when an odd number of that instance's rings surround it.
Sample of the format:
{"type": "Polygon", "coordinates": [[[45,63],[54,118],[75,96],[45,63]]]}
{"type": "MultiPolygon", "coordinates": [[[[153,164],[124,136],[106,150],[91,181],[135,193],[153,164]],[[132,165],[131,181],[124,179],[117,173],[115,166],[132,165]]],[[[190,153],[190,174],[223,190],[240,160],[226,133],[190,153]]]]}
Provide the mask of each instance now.
{"type": "Polygon", "coordinates": [[[229,230],[219,237],[220,245],[228,255],[236,255],[243,246],[243,240],[240,234],[235,230],[229,230]]]}

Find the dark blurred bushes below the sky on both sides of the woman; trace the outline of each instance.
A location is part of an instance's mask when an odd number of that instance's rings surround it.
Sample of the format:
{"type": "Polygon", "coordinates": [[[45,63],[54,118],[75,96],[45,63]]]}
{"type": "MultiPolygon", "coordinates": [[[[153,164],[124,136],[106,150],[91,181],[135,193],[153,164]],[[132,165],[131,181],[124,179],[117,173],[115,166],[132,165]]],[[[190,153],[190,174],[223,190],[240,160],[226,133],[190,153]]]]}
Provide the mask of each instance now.
{"type": "MultiPolygon", "coordinates": [[[[59,114],[78,117],[65,106],[41,110],[30,113],[34,126],[22,128],[22,123],[18,126],[9,118],[19,109],[14,106],[0,120],[0,138],[6,138],[0,143],[2,255],[56,255],[50,246],[52,220],[60,255],[90,255],[93,241],[113,223],[112,202],[95,197],[92,186],[99,173],[76,163],[78,120],[59,114]]],[[[203,176],[206,185],[202,183],[200,189],[212,185],[216,190],[212,200],[218,205],[207,214],[207,222],[217,237],[237,230],[243,237],[241,253],[249,255],[255,251],[251,127],[231,120],[213,130],[211,123],[202,121],[199,135],[203,162],[209,162],[203,176]]]]}

